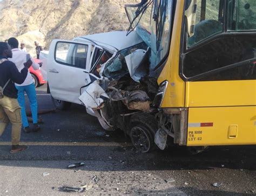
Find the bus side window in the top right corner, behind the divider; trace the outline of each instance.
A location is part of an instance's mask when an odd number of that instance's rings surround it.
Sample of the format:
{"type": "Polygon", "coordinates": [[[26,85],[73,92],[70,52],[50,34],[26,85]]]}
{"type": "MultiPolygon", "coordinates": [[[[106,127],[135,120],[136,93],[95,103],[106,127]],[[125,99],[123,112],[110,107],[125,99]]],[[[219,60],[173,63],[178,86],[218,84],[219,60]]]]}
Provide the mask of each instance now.
{"type": "Polygon", "coordinates": [[[230,1],[229,31],[256,30],[256,1],[230,1]],[[233,4],[232,4],[233,2],[233,4]]]}

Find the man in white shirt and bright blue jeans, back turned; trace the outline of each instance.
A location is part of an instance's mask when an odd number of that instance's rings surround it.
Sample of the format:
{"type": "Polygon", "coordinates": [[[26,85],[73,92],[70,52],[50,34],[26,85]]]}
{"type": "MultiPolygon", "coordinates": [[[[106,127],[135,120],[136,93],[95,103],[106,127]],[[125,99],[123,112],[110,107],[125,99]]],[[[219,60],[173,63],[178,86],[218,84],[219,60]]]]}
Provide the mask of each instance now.
{"type": "MultiPolygon", "coordinates": [[[[24,64],[24,62],[26,62],[28,53],[23,52],[18,49],[19,43],[16,38],[8,39],[8,44],[11,46],[11,49],[12,49],[12,58],[10,58],[9,60],[14,62],[16,67],[18,68],[18,71],[21,72],[21,70],[24,68],[23,64],[24,64]]],[[[32,67],[35,70],[39,69],[39,64],[35,64],[35,62],[33,62],[32,67]]],[[[35,85],[34,85],[33,78],[31,76],[31,74],[28,72],[28,75],[26,76],[25,81],[21,85],[15,83],[15,86],[18,90],[19,106],[21,106],[23,131],[25,133],[29,133],[31,131],[36,132],[40,129],[40,127],[38,125],[38,118],[37,118],[36,89],[35,89],[35,85]],[[25,95],[24,95],[25,92],[28,95],[29,102],[30,102],[30,108],[31,108],[31,112],[32,112],[32,119],[33,119],[33,128],[32,129],[30,129],[28,118],[26,117],[25,95]]]]}

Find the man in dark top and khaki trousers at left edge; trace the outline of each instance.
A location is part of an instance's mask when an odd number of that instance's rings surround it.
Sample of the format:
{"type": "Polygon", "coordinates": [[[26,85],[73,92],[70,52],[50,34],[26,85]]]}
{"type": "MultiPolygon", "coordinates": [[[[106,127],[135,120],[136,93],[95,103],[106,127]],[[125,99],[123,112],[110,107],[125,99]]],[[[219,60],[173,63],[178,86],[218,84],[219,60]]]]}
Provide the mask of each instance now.
{"type": "Polygon", "coordinates": [[[22,128],[21,109],[17,101],[17,90],[14,82],[24,82],[32,62],[31,60],[25,62],[20,73],[15,64],[8,58],[12,58],[11,48],[7,43],[0,42],[0,136],[11,122],[12,147],[10,153],[16,153],[28,149],[28,146],[19,145],[22,128]]]}

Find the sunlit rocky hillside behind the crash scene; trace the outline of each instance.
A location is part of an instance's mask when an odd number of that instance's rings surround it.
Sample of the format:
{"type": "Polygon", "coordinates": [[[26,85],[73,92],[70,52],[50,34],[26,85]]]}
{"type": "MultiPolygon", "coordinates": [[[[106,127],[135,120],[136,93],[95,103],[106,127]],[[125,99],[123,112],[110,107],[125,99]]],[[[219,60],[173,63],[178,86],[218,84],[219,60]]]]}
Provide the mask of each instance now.
{"type": "Polygon", "coordinates": [[[0,40],[18,38],[35,55],[34,41],[46,49],[51,40],[126,30],[124,5],[139,0],[2,0],[0,40]]]}

